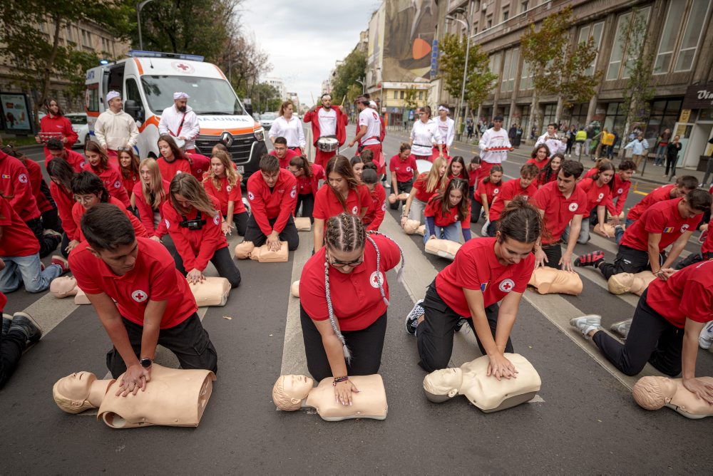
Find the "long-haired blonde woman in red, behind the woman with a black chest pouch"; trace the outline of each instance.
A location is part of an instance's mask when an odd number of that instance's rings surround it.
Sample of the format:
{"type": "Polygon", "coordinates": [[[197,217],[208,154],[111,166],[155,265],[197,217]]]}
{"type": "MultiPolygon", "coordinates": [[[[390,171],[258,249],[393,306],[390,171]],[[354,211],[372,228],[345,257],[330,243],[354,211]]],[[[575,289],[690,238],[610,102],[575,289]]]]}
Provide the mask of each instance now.
{"type": "Polygon", "coordinates": [[[168,233],[163,204],[168,200],[170,182],[163,180],[158,163],[151,157],[142,160],[138,168],[141,179],[133,187],[133,200],[148,237],[160,242],[168,233]]]}

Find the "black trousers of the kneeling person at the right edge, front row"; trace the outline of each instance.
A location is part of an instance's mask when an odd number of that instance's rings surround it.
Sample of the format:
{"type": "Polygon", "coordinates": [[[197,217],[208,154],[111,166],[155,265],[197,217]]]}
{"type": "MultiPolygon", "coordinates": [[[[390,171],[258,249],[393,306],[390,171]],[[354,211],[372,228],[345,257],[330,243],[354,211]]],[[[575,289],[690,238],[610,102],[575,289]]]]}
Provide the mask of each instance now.
{"type": "Polygon", "coordinates": [[[627,376],[637,375],[649,362],[657,371],[675,377],[681,373],[684,330],[647,304],[647,291],[636,306],[626,343],[606,332],[595,333],[592,340],[607,360],[627,376]]]}

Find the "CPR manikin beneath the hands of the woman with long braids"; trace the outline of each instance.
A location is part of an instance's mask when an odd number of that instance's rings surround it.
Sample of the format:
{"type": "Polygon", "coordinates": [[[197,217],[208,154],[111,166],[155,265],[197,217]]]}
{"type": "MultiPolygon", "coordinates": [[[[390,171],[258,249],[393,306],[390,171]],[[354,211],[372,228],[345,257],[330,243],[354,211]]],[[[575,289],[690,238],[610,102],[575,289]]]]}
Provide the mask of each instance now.
{"type": "Polygon", "coordinates": [[[333,378],[325,378],[312,387],[314,381],[307,376],[279,376],[272,387],[272,401],[284,411],[314,408],[322,420],[339,421],[349,418],[384,420],[389,410],[386,404],[384,381],[378,374],[350,376],[359,393],[352,395],[352,405],[342,405],[334,400],[333,378]]]}

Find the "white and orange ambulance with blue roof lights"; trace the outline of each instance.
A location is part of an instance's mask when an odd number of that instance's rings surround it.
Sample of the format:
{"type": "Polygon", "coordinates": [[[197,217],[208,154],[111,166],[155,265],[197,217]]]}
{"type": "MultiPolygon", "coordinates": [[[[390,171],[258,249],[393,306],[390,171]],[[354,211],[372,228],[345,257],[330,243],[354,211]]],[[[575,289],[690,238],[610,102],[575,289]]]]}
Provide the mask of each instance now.
{"type": "Polygon", "coordinates": [[[225,74],[202,56],[129,51],[128,58],[102,64],[86,72],[85,106],[89,133],[94,137],[96,118],[106,108],[106,93],[121,93],[124,111],[136,120],[138,156],[158,157],[158,121],[173,105],[173,93],[190,96],[188,105],[198,115],[198,152],[210,156],[217,143],[230,150],[232,160],[245,180],[259,169],[267,153],[265,130],[246,110],[225,74]]]}

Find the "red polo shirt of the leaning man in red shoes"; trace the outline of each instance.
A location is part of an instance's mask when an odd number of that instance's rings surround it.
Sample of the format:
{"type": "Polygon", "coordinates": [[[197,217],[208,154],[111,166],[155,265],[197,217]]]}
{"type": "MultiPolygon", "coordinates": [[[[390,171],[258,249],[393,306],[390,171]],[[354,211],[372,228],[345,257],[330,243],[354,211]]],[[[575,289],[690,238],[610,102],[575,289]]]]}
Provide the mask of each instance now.
{"type": "Polygon", "coordinates": [[[683,197],[659,202],[641,215],[624,232],[621,244],[645,252],[649,249],[649,234],[660,233],[659,252],[675,242],[684,232],[696,229],[701,221],[700,215],[682,218],[678,204],[683,197]]]}

